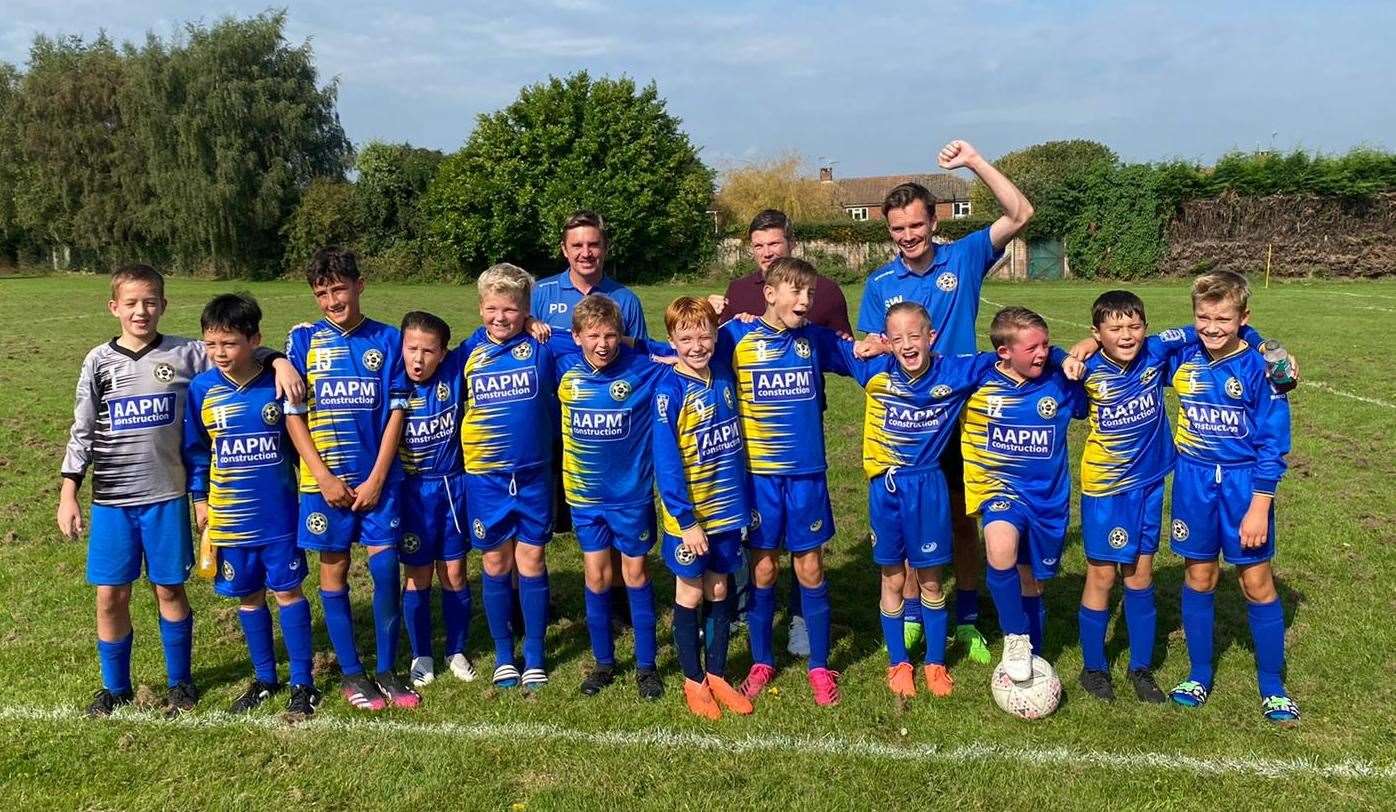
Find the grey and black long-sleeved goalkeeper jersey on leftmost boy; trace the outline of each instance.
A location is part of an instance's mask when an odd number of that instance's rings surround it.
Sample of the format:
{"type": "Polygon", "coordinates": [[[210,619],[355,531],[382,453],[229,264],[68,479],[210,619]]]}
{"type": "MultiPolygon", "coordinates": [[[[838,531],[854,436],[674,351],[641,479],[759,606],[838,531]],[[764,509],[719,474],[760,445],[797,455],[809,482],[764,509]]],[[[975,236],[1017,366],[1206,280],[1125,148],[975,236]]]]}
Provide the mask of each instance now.
{"type": "Polygon", "coordinates": [[[204,343],[162,335],[140,352],[96,346],[78,374],[63,476],[91,469],[92,502],[151,505],[186,493],[183,439],[188,381],[208,368],[204,343]]]}

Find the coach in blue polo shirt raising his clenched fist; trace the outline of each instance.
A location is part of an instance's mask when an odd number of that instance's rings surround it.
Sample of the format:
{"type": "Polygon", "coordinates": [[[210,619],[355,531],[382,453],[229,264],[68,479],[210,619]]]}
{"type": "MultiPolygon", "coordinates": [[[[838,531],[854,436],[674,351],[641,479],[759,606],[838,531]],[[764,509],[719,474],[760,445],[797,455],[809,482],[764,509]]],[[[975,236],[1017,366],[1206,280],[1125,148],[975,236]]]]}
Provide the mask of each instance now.
{"type": "MultiPolygon", "coordinates": [[[[979,318],[979,292],[988,269],[1004,255],[1004,247],[1018,236],[1033,216],[1033,206],[1004,173],[984,160],[967,141],[951,141],[938,156],[941,169],[966,167],[988,187],[1004,211],[987,229],[980,229],[953,243],[937,246],[935,198],[920,184],[903,183],[882,201],[886,230],[896,244],[896,257],[868,275],[859,307],[859,329],[881,333],[886,308],[898,301],[916,301],[931,314],[935,342],[944,356],[973,353],[974,321],[979,318]]],[[[965,515],[965,460],[960,444],[951,442],[941,456],[941,469],[951,490],[951,519],[955,550],[955,638],[969,649],[970,659],[988,663],[988,646],[974,626],[979,619],[979,580],[983,552],[979,530],[965,515]]],[[[916,578],[906,579],[910,593],[906,619],[917,621],[920,601],[916,578]]],[[[903,593],[905,594],[905,593],[903,593]]],[[[907,642],[920,632],[907,624],[907,642]]]]}

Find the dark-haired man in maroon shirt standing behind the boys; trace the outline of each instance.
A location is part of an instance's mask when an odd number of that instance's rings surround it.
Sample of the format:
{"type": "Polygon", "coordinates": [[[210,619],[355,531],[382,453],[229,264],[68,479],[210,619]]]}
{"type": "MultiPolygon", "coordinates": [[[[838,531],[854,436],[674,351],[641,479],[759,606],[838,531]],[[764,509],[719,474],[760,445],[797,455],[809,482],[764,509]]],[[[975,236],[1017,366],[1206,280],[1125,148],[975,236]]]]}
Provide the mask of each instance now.
{"type": "MultiPolygon", "coordinates": [[[[726,294],[708,297],[712,308],[718,311],[719,324],[730,321],[741,313],[759,317],[766,311],[766,297],[764,293],[766,268],[780,257],[790,255],[790,218],[785,212],[766,209],[751,220],[751,225],[747,227],[747,239],[751,241],[751,258],[757,261],[757,271],[729,282],[726,294]]],[[[843,290],[839,289],[839,283],[828,276],[821,275],[815,279],[814,296],[805,318],[810,324],[826,326],[843,336],[853,336],[853,325],[849,322],[849,303],[843,299],[843,290]]],[[[745,568],[737,573],[741,593],[747,592],[748,575],[750,571],[745,568]]],[[[792,656],[808,657],[810,633],[805,629],[804,612],[800,607],[800,583],[793,578],[790,579],[789,603],[790,638],[786,649],[792,656]]],[[[743,615],[745,615],[744,611],[743,615]]]]}

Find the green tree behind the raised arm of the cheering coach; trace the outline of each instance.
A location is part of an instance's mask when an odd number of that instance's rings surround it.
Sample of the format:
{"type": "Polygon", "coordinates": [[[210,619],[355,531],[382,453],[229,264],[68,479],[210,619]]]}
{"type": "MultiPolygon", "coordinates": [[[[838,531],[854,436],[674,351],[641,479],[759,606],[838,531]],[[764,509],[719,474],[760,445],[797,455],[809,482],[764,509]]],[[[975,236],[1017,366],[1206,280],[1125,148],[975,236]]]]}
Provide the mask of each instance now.
{"type": "MultiPolygon", "coordinates": [[[[1115,153],[1094,141],[1048,141],[1009,152],[994,162],[1027,195],[1033,204],[1030,237],[1060,239],[1071,227],[1075,212],[1082,205],[1086,176],[1100,166],[1118,163],[1115,153]]],[[[997,219],[1002,211],[998,201],[980,180],[970,186],[970,202],[976,215],[997,219]]]]}

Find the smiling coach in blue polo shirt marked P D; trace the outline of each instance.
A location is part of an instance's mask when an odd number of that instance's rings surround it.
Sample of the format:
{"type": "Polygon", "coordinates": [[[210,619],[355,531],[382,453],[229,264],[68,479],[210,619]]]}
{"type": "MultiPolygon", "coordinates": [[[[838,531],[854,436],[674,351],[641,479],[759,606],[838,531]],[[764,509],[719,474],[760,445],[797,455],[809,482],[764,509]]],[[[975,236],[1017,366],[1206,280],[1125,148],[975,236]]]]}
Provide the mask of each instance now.
{"type": "Polygon", "coordinates": [[[639,297],[606,276],[606,220],[581,211],[563,223],[567,271],[533,286],[533,318],[553,329],[572,332],[572,308],[588,293],[604,293],[620,306],[621,328],[631,338],[649,338],[639,297]]]}

